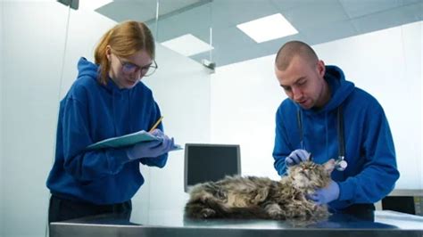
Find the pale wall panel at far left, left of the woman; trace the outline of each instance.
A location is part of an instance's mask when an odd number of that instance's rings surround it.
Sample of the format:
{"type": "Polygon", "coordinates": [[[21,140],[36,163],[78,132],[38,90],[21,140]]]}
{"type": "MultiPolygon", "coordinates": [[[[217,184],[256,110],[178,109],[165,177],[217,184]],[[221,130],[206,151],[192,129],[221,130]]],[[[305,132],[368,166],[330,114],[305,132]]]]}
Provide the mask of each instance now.
{"type": "Polygon", "coordinates": [[[4,208],[0,214],[4,236],[37,236],[45,230],[45,181],[51,166],[66,20],[66,12],[58,6],[4,2],[2,53],[7,61],[3,61],[4,208]]]}

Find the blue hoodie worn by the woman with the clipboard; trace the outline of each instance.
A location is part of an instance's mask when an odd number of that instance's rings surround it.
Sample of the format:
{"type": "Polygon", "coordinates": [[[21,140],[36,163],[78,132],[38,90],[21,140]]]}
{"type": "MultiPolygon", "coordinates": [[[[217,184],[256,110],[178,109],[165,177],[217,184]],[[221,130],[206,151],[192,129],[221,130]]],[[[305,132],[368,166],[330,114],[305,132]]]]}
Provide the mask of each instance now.
{"type": "Polygon", "coordinates": [[[161,112],[142,82],[120,89],[109,79],[104,86],[97,80],[98,65],[85,58],[79,60],[78,69],[78,79],[60,103],[47,187],[64,199],[97,205],[130,200],[144,183],[139,162],[162,168],[168,155],[130,161],[124,148],[85,148],[106,138],[148,130],[161,112]]]}

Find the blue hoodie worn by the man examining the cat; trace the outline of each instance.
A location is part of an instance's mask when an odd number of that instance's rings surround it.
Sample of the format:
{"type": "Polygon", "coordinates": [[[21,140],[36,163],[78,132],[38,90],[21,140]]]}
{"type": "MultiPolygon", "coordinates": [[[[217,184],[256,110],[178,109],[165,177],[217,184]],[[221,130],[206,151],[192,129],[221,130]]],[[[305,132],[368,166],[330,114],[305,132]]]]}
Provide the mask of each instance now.
{"type": "Polygon", "coordinates": [[[337,210],[354,203],[377,202],[394,189],[399,178],[385,112],[374,97],[346,81],[344,72],[336,66],[326,67],[325,79],[331,98],[323,108],[303,110],[290,99],[280,104],[276,115],[274,166],[280,176],[285,175],[286,156],[302,148],[298,110],[303,119],[303,149],[311,152],[313,160],[319,164],[337,159],[336,111],[342,104],[348,167],[343,172],[332,172],[340,194],[329,207],[337,210]]]}

